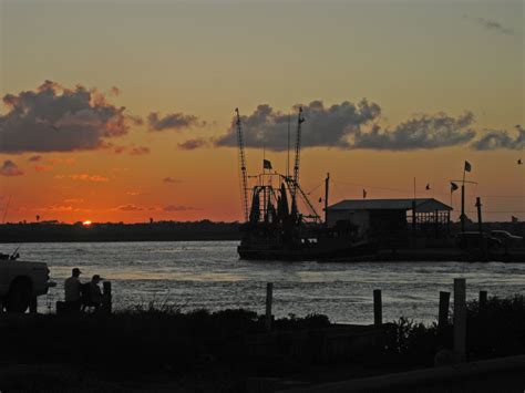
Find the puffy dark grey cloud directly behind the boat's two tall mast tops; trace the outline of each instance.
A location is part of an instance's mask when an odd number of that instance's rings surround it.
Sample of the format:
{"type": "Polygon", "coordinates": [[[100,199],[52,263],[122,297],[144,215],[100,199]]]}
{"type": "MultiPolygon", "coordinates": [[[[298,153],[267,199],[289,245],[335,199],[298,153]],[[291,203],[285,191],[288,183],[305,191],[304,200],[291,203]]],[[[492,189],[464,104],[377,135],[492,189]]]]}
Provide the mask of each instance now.
{"type": "MultiPolygon", "coordinates": [[[[295,106],[297,113],[299,105],[295,106]]],[[[357,105],[343,102],[325,107],[321,101],[313,101],[302,106],[302,146],[333,146],[350,147],[348,137],[357,133],[362,126],[379,118],[381,108],[378,104],[362,100],[357,105]]],[[[241,117],[245,145],[248,147],[266,146],[272,151],[285,151],[288,146],[289,115],[275,111],[269,105],[259,105],[249,116],[241,117]]],[[[236,146],[236,118],[226,135],[215,141],[217,146],[236,146]]],[[[297,114],[290,118],[291,138],[297,127],[297,114]]]]}

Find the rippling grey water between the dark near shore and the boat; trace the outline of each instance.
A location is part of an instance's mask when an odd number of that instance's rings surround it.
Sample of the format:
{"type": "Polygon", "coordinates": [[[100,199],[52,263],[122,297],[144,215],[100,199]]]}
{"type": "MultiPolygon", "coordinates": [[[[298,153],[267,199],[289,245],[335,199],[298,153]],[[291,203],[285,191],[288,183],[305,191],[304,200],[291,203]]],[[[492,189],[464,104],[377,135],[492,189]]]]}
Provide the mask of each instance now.
{"type": "MultiPolygon", "coordinates": [[[[16,245],[0,245],[12,252],[16,245]]],[[[44,261],[58,282],[39,298],[54,310],[73,267],[84,280],[99,273],[113,282],[115,308],[167,301],[183,310],[245,308],[262,313],[266,282],[274,282],[278,317],[325,313],[337,322],[370,323],[372,291],[382,289],[384,320],[405,316],[431,322],[439,291],[464,277],[467,298],[480,290],[506,296],[524,291],[525,263],[317,263],[241,261],[236,241],[24,244],[21,259],[44,261]]]]}

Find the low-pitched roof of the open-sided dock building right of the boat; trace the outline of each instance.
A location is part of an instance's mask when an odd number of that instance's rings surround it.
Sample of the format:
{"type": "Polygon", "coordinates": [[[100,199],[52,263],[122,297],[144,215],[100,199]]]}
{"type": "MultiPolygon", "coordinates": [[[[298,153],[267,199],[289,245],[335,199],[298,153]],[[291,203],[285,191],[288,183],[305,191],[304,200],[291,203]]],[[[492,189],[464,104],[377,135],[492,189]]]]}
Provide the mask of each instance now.
{"type": "Polygon", "coordinates": [[[415,200],[418,213],[430,213],[435,210],[453,210],[434,198],[416,199],[344,199],[328,207],[328,210],[410,210],[415,200]]]}

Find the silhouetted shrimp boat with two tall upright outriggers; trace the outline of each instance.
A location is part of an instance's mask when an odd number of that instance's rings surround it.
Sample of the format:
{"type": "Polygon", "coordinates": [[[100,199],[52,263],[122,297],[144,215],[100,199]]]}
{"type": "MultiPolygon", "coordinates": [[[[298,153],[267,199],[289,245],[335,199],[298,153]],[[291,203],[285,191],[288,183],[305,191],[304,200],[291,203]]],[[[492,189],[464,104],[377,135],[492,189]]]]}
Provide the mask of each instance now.
{"type": "MultiPolygon", "coordinates": [[[[248,176],[241,118],[237,113],[241,203],[245,223],[240,226],[241,240],[237,248],[240,259],[259,260],[327,260],[370,254],[374,248],[368,241],[358,241],[358,227],[350,221],[338,221],[328,227],[317,213],[308,195],[299,185],[302,108],[297,118],[295,164],[292,175],[274,170],[262,161],[262,173],[248,176]],[[248,177],[256,185],[248,187],[248,177]],[[248,206],[248,199],[250,204],[248,206]],[[299,201],[307,214],[301,214],[299,201]]],[[[330,175],[325,180],[325,213],[328,207],[330,175]]]]}

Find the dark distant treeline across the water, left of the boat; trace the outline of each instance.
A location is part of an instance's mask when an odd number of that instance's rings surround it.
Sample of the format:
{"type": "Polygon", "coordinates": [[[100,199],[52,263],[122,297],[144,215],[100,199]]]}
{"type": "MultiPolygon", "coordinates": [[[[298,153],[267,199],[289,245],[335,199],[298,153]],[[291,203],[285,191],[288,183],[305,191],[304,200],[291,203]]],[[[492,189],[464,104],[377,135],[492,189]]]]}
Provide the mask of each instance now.
{"type": "Polygon", "coordinates": [[[60,224],[55,221],[0,225],[0,242],[43,241],[174,241],[238,240],[238,223],[158,221],[147,224],[60,224]]]}

